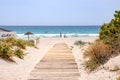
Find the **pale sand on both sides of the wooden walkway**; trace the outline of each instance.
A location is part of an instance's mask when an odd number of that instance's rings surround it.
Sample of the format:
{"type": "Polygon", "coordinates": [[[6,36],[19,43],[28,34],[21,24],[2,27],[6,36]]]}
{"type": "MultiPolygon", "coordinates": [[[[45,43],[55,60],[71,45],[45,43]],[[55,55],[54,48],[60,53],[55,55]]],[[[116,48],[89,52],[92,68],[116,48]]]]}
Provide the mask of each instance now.
{"type": "MultiPolygon", "coordinates": [[[[39,49],[27,48],[24,60],[14,58],[16,63],[6,62],[0,59],[0,80],[27,80],[28,75],[34,68],[34,66],[42,59],[47,51],[55,44],[65,42],[68,46],[73,46],[73,54],[76,58],[76,62],[79,66],[80,80],[111,80],[111,76],[115,76],[115,72],[109,72],[106,70],[99,70],[92,74],[87,74],[82,65],[83,50],[73,45],[77,40],[83,40],[92,42],[96,37],[81,37],[81,38],[41,38],[39,49]]],[[[113,78],[115,80],[116,77],[113,78]]]]}

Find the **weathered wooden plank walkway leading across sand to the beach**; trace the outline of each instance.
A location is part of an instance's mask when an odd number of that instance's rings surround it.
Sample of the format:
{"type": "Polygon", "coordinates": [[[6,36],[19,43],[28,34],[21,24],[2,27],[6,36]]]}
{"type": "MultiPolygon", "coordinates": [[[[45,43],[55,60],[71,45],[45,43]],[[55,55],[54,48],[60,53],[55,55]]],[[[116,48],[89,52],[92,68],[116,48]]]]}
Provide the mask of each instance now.
{"type": "Polygon", "coordinates": [[[55,44],[35,66],[28,80],[79,80],[77,64],[65,43],[55,44]]]}

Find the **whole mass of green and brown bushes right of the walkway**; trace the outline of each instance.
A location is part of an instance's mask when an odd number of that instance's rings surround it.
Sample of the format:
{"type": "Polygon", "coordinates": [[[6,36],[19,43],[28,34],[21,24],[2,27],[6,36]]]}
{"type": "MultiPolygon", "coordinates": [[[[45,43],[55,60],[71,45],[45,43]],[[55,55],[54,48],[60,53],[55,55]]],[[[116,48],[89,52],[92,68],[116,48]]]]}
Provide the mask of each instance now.
{"type": "Polygon", "coordinates": [[[120,11],[115,11],[114,18],[100,28],[99,39],[90,44],[84,53],[88,58],[85,65],[91,72],[103,65],[110,57],[120,54],[120,11]]]}

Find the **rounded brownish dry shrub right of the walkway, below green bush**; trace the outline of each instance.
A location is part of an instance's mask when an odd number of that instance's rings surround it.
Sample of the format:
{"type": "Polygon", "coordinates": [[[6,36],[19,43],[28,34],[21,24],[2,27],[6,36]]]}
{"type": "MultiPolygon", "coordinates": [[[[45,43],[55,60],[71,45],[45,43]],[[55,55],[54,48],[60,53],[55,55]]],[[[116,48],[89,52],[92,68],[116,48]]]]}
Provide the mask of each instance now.
{"type": "Polygon", "coordinates": [[[111,55],[111,47],[104,44],[102,41],[95,41],[90,44],[88,49],[84,52],[84,58],[88,58],[85,62],[86,68],[89,71],[95,70],[101,64],[104,64],[111,55]]]}

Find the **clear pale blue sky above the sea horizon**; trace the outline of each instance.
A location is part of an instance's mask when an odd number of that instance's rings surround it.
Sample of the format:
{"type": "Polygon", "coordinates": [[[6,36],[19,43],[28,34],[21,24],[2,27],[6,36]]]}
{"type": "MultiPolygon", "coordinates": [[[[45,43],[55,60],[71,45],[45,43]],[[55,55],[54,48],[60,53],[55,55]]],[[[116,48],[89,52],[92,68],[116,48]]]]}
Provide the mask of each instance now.
{"type": "Polygon", "coordinates": [[[120,0],[0,0],[0,25],[102,25],[120,0]]]}

